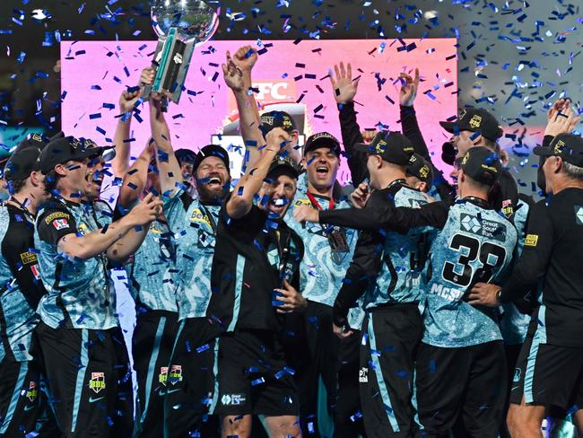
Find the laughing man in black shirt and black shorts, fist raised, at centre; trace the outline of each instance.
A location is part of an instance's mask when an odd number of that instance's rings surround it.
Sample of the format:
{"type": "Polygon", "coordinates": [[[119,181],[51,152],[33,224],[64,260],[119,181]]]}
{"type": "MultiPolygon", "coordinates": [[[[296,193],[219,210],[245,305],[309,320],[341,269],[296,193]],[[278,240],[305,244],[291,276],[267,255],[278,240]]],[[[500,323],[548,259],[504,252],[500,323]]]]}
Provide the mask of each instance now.
{"type": "Polygon", "coordinates": [[[207,315],[218,340],[215,413],[222,436],[247,438],[252,415],[269,436],[300,437],[293,370],[282,351],[283,317],[305,307],[298,292],[303,244],[283,221],[296,191],[298,166],[276,158],[291,136],[267,135],[257,167],[239,180],[222,207],[207,315]]]}

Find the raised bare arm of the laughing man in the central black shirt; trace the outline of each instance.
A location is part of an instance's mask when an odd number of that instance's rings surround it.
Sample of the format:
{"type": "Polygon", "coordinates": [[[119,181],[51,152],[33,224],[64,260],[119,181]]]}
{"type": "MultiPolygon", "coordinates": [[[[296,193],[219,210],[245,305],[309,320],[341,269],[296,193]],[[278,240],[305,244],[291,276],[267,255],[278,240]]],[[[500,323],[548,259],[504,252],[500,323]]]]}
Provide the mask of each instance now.
{"type": "Polygon", "coordinates": [[[253,206],[253,198],[263,185],[269,171],[269,166],[274,161],[274,157],[284,147],[286,142],[291,140],[291,136],[281,127],[275,127],[267,134],[267,145],[262,152],[257,166],[248,169],[247,173],[241,177],[237,187],[233,190],[232,196],[227,202],[227,215],[233,219],[238,219],[247,215],[253,206]]]}

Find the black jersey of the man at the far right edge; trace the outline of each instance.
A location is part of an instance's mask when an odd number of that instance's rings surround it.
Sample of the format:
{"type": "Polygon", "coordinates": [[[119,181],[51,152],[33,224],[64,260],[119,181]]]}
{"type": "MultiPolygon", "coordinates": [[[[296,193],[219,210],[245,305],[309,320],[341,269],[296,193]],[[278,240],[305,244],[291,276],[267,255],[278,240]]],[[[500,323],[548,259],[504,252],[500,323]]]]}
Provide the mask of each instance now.
{"type": "Polygon", "coordinates": [[[501,291],[508,302],[544,278],[538,328],[544,343],[583,346],[583,189],[565,188],[532,207],[524,250],[501,291]]]}

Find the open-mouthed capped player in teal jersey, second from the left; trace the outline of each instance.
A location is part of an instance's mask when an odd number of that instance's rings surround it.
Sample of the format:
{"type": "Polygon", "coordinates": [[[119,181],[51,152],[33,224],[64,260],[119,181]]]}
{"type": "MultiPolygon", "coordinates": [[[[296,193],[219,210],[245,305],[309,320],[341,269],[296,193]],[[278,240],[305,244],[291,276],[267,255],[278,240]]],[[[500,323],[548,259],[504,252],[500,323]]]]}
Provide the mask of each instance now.
{"type": "Polygon", "coordinates": [[[129,360],[116,313],[109,262],[123,262],[144,240],[161,201],[144,197],[125,217],[99,194],[101,148],[74,137],[40,154],[48,201],[39,208],[35,246],[47,294],[38,307],[39,351],[64,436],[126,436],[133,429],[129,360]]]}

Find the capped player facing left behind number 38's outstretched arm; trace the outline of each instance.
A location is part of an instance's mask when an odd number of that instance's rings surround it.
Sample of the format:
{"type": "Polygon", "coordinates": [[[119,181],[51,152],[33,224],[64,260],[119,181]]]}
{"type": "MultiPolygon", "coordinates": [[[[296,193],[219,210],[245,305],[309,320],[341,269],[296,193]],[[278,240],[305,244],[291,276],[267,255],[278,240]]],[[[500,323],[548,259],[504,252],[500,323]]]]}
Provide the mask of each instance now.
{"type": "MultiPolygon", "coordinates": [[[[378,207],[382,207],[391,200],[395,206],[427,203],[421,191],[407,187],[405,182],[405,171],[413,156],[413,145],[405,136],[379,132],[370,144],[353,147],[368,156],[370,186],[375,190],[368,201],[370,206],[380,203],[378,207]]],[[[296,218],[302,219],[301,209],[296,218]]],[[[413,363],[423,329],[419,302],[423,301],[420,285],[428,238],[424,230],[405,235],[361,233],[344,285],[335,298],[334,325],[344,327],[344,331],[337,332],[340,337],[350,338],[353,326],[348,323],[348,311],[365,295],[365,336],[358,341],[367,436],[413,436],[418,430],[412,402],[413,363]],[[386,345],[392,346],[388,353],[382,348],[386,345]],[[380,355],[375,353],[377,350],[380,355]]]]}

